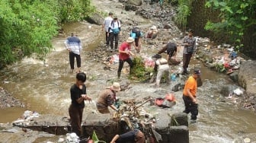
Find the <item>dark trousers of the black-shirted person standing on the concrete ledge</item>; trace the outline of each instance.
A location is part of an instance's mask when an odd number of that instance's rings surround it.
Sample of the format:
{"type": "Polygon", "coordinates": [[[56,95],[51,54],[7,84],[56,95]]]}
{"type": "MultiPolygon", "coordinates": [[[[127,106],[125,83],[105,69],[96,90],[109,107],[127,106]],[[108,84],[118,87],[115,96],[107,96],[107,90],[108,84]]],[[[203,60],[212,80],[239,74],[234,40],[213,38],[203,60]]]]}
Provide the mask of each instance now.
{"type": "Polygon", "coordinates": [[[81,123],[83,110],[83,108],[73,106],[72,104],[69,106],[69,116],[72,126],[72,132],[75,132],[78,137],[82,135],[81,123]]]}

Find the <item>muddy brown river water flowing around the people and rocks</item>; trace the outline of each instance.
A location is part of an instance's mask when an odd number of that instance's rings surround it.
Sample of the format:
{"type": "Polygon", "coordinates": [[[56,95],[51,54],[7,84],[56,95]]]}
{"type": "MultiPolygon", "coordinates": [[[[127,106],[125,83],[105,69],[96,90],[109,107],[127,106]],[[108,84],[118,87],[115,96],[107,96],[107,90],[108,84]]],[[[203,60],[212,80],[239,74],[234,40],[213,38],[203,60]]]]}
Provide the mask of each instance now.
{"type": "MultiPolygon", "coordinates": [[[[9,108],[0,110],[0,122],[11,122],[18,119],[24,110],[34,110],[40,114],[56,114],[68,116],[70,103],[69,87],[75,82],[75,73],[69,71],[69,56],[64,49],[64,40],[70,32],[75,32],[83,43],[82,71],[88,75],[86,82],[88,94],[95,100],[98,93],[117,78],[117,65],[112,71],[105,71],[103,65],[95,59],[88,57],[88,51],[93,50],[102,43],[104,33],[101,26],[85,22],[66,24],[66,35],[59,35],[53,39],[52,53],[46,58],[46,62],[36,59],[24,59],[21,62],[10,65],[0,72],[0,86],[10,92],[14,97],[27,103],[26,109],[9,108]]],[[[150,49],[151,50],[151,49],[150,49]]],[[[149,50],[149,51],[150,51],[149,50]]],[[[256,115],[248,110],[238,109],[234,103],[220,102],[216,96],[219,90],[226,84],[233,84],[226,75],[219,75],[215,71],[204,67],[194,59],[191,65],[200,66],[202,70],[203,86],[198,88],[199,116],[198,122],[190,124],[190,142],[243,142],[244,138],[251,138],[256,142],[256,115]]],[[[121,75],[126,80],[125,74],[121,75]]],[[[131,83],[128,91],[120,92],[120,99],[142,97],[159,97],[170,91],[170,87],[152,87],[149,83],[131,83]]],[[[171,113],[184,110],[182,91],[175,93],[178,100],[176,106],[170,109],[171,113]]],[[[226,95],[223,95],[226,96],[226,95]]],[[[95,112],[95,103],[86,103],[86,113],[95,112]]],[[[0,141],[1,142],[1,141],[0,141]]]]}

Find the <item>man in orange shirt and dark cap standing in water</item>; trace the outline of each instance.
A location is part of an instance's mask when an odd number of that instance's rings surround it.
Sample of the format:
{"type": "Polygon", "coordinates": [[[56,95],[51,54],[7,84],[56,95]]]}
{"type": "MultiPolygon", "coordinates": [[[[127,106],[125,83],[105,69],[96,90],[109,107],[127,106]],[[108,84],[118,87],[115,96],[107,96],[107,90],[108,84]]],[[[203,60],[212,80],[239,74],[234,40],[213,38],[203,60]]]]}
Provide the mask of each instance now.
{"type": "Polygon", "coordinates": [[[200,69],[194,69],[194,74],[190,76],[184,87],[183,100],[185,104],[184,113],[191,113],[191,122],[197,122],[197,78],[200,78],[200,69]]]}

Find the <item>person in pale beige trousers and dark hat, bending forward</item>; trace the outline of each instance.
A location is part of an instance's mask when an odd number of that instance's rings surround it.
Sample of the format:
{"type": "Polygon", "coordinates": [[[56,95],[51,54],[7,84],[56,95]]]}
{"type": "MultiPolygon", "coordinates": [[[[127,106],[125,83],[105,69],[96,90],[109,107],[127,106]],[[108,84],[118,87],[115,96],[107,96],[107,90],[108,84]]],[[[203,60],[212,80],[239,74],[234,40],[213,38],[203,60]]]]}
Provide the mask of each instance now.
{"type": "Polygon", "coordinates": [[[156,54],[155,56],[152,56],[153,59],[156,59],[155,61],[155,67],[154,70],[157,71],[155,84],[156,86],[160,86],[160,81],[162,78],[162,75],[166,75],[166,82],[170,84],[170,67],[168,65],[168,61],[164,58],[162,58],[161,55],[156,54]]]}

